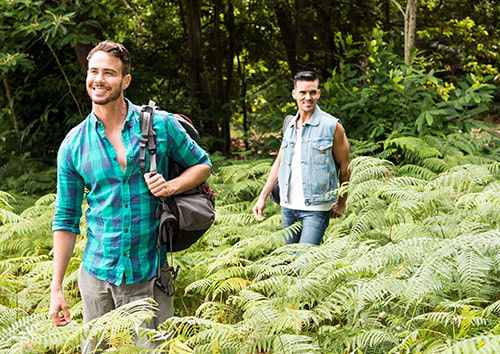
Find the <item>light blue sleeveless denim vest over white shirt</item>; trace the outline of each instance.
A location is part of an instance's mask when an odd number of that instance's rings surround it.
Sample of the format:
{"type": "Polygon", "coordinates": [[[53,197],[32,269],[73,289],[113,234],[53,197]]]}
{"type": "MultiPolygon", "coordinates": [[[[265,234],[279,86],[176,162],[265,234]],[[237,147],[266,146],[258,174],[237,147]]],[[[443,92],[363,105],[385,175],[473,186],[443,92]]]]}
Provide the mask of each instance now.
{"type": "MultiPolygon", "coordinates": [[[[288,203],[288,188],[293,154],[297,142],[295,119],[285,127],[278,170],[280,199],[288,203]]],[[[302,183],[306,205],[333,203],[338,188],[338,172],[333,158],[333,136],[338,119],[316,107],[311,119],[302,126],[302,183]]]]}

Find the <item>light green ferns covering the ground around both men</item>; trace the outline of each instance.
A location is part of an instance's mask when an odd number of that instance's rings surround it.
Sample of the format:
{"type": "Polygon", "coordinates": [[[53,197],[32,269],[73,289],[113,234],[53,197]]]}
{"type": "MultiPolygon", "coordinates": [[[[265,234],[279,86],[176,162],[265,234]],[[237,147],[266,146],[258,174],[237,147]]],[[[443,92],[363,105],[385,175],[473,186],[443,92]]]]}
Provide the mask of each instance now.
{"type": "Polygon", "coordinates": [[[17,215],[12,198],[0,194],[0,352],[74,353],[88,334],[116,352],[140,352],[131,344],[138,334],[159,340],[156,352],[494,353],[498,139],[462,133],[355,145],[387,158],[355,155],[340,190],[349,194],[346,214],[331,220],[320,246],[285,245],[274,203],[266,220],[251,215],[270,160],[215,158],[217,220],[175,255],[175,317],[158,330],[138,327],[152,316],[147,300],[81,324],[76,271],[84,237],[64,284],[74,321],[53,327],[45,245],[53,195],[17,215]]]}

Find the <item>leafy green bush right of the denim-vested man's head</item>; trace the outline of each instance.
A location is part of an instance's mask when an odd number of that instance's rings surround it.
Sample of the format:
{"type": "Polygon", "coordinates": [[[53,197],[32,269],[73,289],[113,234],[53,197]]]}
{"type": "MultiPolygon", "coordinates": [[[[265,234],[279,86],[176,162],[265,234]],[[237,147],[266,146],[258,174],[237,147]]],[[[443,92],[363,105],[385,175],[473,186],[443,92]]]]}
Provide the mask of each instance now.
{"type": "MultiPolygon", "coordinates": [[[[349,50],[349,48],[347,48],[349,50]]],[[[406,65],[376,33],[366,65],[344,64],[324,83],[320,105],[339,117],[355,139],[470,132],[488,107],[494,86],[475,75],[450,83],[428,71],[424,57],[406,65]],[[362,124],[360,124],[362,123],[362,124]]]]}

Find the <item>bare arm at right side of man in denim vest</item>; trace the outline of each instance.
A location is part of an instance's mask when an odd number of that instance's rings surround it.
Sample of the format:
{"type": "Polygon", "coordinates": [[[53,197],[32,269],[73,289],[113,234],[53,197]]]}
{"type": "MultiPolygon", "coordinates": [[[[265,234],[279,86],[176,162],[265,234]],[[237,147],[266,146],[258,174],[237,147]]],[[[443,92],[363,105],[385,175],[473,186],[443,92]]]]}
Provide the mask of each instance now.
{"type": "MultiPolygon", "coordinates": [[[[349,141],[345,134],[345,129],[342,124],[337,123],[337,128],[335,129],[335,135],[333,139],[333,157],[339,165],[339,187],[342,183],[349,181],[351,173],[349,171],[350,163],[350,153],[349,153],[349,141]]],[[[344,193],[339,197],[337,202],[333,205],[331,216],[338,218],[344,214],[345,202],[347,199],[347,193],[344,193]]]]}

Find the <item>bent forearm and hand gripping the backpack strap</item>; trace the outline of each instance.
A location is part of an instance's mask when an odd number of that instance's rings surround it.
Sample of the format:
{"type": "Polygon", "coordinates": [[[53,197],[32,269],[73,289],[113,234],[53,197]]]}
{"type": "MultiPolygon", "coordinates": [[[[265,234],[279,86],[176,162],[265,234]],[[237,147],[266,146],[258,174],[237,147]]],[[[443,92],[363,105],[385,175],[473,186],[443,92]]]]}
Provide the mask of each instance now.
{"type": "Polygon", "coordinates": [[[210,171],[209,165],[198,164],[188,167],[178,177],[168,181],[159,173],[145,173],[144,179],[155,197],[168,197],[199,186],[210,177],[210,171]]]}

